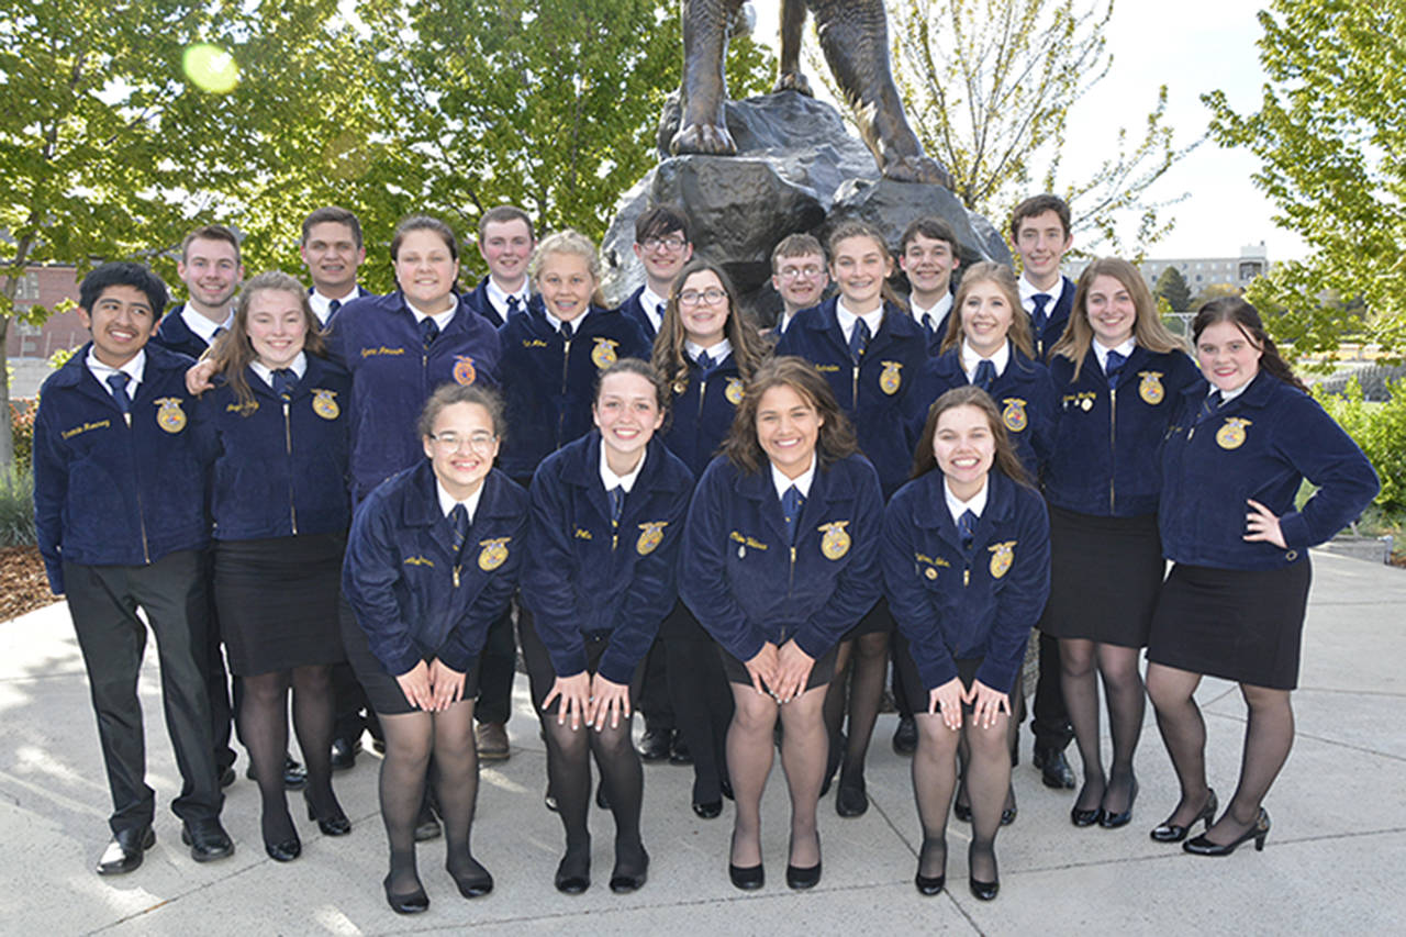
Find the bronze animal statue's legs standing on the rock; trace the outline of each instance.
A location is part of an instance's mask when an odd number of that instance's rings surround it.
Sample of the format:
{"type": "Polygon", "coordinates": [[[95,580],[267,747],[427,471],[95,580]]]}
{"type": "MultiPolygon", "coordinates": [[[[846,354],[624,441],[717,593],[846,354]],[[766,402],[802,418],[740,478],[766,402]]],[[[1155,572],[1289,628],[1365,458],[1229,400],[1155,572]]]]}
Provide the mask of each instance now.
{"type": "MultiPolygon", "coordinates": [[[[683,0],[683,86],[678,107],[678,132],[666,142],[671,153],[733,155],[737,145],[727,132],[724,53],[728,27],[742,0],[683,0]]],[[[879,170],[897,181],[936,183],[952,187],[952,176],[922,152],[908,127],[903,101],[889,68],[889,25],[883,0],[782,0],[780,68],[778,91],[810,94],[800,72],[801,28],[806,10],[815,15],[825,60],[855,113],[859,135],[875,155],[879,170]]],[[[671,108],[661,127],[671,124],[671,108]]],[[[666,134],[666,131],[664,131],[666,134]]]]}

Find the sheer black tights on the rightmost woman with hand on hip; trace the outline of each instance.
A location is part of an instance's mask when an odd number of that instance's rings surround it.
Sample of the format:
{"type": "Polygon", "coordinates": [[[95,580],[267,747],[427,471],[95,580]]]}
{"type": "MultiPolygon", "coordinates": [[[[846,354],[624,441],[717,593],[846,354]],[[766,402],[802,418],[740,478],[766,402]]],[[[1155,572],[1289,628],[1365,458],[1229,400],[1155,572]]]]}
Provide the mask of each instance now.
{"type": "MultiPolygon", "coordinates": [[[[1206,803],[1206,723],[1195,694],[1201,674],[1161,664],[1147,665],[1147,694],[1157,710],[1157,729],[1177,770],[1181,801],[1168,823],[1187,826],[1206,803]]],[[[1240,782],[1220,819],[1206,831],[1212,843],[1230,843],[1260,816],[1260,803],[1294,747],[1294,706],[1288,689],[1240,684],[1249,708],[1240,782]]]]}

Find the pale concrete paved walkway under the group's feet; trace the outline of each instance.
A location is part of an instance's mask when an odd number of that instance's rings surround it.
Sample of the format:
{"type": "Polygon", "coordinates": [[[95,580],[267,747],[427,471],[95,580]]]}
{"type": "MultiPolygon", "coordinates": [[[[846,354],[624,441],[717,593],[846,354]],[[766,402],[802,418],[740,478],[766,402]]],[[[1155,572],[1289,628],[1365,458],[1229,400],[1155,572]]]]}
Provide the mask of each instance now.
{"type": "MultiPolygon", "coordinates": [[[[810,893],[789,892],[786,796],[772,777],[763,805],[768,885],[747,893],[727,881],[730,810],[689,810],[692,771],[645,767],[648,885],[612,895],[610,822],[592,810],[596,884],[558,895],[551,875],[561,826],[541,806],[543,746],[520,678],[509,723],[513,757],[485,768],[475,854],[498,891],[465,902],[443,871],[443,841],[420,848],[430,910],[396,917],[381,895],[385,839],[375,803],[377,758],[337,775],[356,824],[329,840],[299,819],[304,855],[280,865],[259,839],[257,789],[228,789],[225,824],[238,843],[225,861],[197,865],[167,809],[179,786],[160,725],[155,654],[142,673],[149,716],[149,782],[157,791],[156,848],[132,875],[93,874],[110,809],[82,658],[67,611],[55,605],[0,625],[0,930],[13,934],[1074,934],[1402,933],[1406,929],[1406,574],[1315,554],[1298,740],[1270,793],[1274,829],[1264,853],[1223,860],[1184,855],[1147,839],[1170,812],[1175,782],[1149,708],[1137,753],[1142,795],[1122,830],[1076,830],[1071,795],[1047,791],[1031,768],[1029,736],[1015,770],[1019,819],[997,840],[1001,896],[966,889],[967,827],[949,830],[949,892],[912,888],[917,817],[908,763],[893,754],[883,716],[870,753],[872,809],[844,820],[821,802],[825,872],[810,893]]],[[[1209,729],[1212,784],[1229,796],[1244,709],[1234,687],[1208,680],[1199,698],[1209,729]]],[[[301,806],[294,795],[294,806],[301,806]]],[[[297,810],[294,816],[298,817],[297,810]]]]}

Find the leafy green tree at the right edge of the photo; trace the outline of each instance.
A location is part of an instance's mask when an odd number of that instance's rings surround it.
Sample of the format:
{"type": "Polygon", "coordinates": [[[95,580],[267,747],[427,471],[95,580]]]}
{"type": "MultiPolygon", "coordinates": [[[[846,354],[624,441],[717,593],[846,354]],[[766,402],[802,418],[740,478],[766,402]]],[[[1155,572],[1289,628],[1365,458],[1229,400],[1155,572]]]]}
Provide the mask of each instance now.
{"type": "Polygon", "coordinates": [[[1406,0],[1274,0],[1258,14],[1268,76],[1258,110],[1202,97],[1212,136],[1260,158],[1254,183],[1309,256],[1275,264],[1247,294],[1284,307],[1271,326],[1295,356],[1367,329],[1406,338],[1406,0]],[[1365,317],[1323,297],[1354,297],[1365,317]]]}

